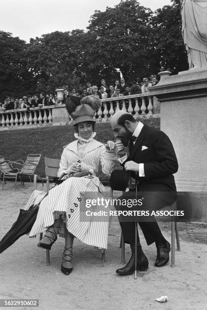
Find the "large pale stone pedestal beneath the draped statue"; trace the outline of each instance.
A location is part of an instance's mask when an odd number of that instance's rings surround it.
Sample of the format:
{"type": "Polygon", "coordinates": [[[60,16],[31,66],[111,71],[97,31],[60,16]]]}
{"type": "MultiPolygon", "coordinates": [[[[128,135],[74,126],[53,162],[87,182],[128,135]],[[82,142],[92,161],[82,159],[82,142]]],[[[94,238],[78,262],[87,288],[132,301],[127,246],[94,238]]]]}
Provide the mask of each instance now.
{"type": "Polygon", "coordinates": [[[160,101],[160,129],[178,157],[178,191],[207,193],[207,70],[161,78],[151,93],[160,101]]]}

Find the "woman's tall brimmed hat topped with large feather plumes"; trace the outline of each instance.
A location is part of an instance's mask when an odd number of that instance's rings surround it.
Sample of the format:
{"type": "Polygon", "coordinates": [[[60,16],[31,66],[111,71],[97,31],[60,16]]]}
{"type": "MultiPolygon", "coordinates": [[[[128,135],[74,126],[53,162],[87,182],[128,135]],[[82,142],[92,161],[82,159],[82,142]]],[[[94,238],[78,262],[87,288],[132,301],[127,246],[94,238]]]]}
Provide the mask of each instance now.
{"type": "Polygon", "coordinates": [[[81,122],[93,122],[95,111],[101,106],[101,101],[95,96],[87,96],[79,99],[75,96],[70,96],[66,99],[65,107],[67,112],[71,115],[76,125],[81,122]]]}

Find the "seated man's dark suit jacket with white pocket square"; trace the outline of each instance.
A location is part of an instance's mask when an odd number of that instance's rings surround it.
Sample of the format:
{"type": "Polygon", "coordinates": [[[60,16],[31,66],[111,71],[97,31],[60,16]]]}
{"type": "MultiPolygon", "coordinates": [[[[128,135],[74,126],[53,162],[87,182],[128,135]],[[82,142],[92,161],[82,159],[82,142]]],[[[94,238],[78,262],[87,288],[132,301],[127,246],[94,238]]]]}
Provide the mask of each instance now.
{"type": "Polygon", "coordinates": [[[127,161],[144,163],[145,177],[131,173],[133,178],[139,180],[139,190],[176,192],[172,174],[178,171],[178,161],[174,147],[164,132],[144,125],[135,144],[129,142],[127,161]]]}

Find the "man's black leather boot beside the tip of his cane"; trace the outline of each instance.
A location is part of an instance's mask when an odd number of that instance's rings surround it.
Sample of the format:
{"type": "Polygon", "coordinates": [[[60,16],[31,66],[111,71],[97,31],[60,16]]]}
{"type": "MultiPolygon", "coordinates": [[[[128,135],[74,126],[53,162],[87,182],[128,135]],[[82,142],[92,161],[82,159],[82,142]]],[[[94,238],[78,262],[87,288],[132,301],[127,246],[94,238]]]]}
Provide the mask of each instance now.
{"type": "MultiPolygon", "coordinates": [[[[131,275],[135,270],[135,245],[130,244],[131,247],[131,258],[129,259],[128,263],[122,267],[116,270],[116,273],[124,276],[124,275],[131,275]]],[[[142,250],[142,246],[137,246],[137,270],[147,270],[149,265],[148,259],[145,255],[145,253],[142,250]]]]}

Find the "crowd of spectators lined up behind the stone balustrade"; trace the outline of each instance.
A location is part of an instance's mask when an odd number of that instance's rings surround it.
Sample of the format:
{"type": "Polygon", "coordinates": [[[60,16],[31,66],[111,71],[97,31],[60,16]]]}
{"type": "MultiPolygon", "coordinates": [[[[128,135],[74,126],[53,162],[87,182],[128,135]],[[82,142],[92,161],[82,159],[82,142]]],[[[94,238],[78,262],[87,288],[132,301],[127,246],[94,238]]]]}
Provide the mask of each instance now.
{"type": "MultiPolygon", "coordinates": [[[[63,103],[66,101],[66,98],[69,96],[76,97],[86,97],[89,95],[97,96],[100,99],[123,97],[128,95],[135,95],[141,93],[148,93],[149,87],[152,87],[158,83],[157,76],[152,74],[150,78],[143,78],[141,81],[140,78],[136,78],[135,81],[130,83],[125,83],[124,78],[120,80],[115,80],[115,83],[106,84],[105,80],[101,80],[100,87],[96,85],[91,85],[90,82],[86,83],[86,87],[81,91],[80,89],[73,88],[71,92],[68,90],[68,87],[64,89],[63,103]]],[[[33,107],[42,107],[49,105],[58,105],[59,101],[57,99],[57,94],[50,93],[45,95],[40,93],[40,95],[28,95],[23,96],[22,98],[10,97],[8,96],[4,103],[0,102],[0,111],[12,110],[12,109],[29,109],[33,107]]]]}

